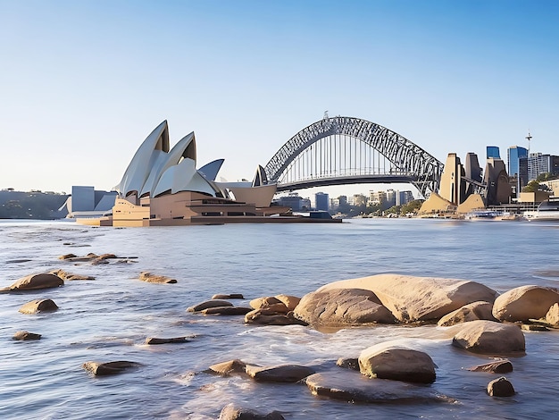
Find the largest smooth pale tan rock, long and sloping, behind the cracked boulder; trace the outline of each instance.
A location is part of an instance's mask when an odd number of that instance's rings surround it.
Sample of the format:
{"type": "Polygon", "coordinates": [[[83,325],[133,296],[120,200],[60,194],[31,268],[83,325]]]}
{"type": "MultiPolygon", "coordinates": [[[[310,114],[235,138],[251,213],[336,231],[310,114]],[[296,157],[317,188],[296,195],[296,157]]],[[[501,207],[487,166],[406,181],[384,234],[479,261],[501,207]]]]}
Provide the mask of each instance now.
{"type": "Polygon", "coordinates": [[[399,321],[430,321],[469,303],[493,302],[496,291],[475,281],[401,274],[378,274],[335,281],[317,291],[332,289],[371,290],[399,321]]]}

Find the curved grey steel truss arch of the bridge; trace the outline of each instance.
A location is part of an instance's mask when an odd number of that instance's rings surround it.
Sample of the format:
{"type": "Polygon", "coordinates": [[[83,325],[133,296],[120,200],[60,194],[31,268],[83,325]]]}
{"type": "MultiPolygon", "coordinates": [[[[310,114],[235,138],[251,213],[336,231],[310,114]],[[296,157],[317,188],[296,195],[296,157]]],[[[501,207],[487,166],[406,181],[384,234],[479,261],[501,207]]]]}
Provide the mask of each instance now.
{"type": "MultiPolygon", "coordinates": [[[[396,168],[397,175],[392,178],[400,182],[410,181],[423,197],[427,197],[430,192],[438,191],[444,169],[444,164],[438,159],[395,131],[388,130],[374,122],[344,116],[325,117],[296,133],[266,164],[264,171],[268,181],[278,182],[278,186],[281,187],[282,175],[299,155],[321,139],[328,137],[336,139],[337,135],[357,139],[366,147],[377,150],[396,168]]],[[[350,150],[349,153],[352,151],[350,150]]],[[[379,176],[378,182],[390,182],[390,178],[389,175],[379,176]]],[[[373,177],[363,177],[362,179],[371,181],[373,177]]],[[[355,180],[356,177],[353,181],[355,180]]],[[[340,179],[337,182],[332,180],[329,182],[326,178],[322,178],[322,182],[322,184],[320,181],[314,182],[314,185],[343,183],[340,182],[340,179]]]]}

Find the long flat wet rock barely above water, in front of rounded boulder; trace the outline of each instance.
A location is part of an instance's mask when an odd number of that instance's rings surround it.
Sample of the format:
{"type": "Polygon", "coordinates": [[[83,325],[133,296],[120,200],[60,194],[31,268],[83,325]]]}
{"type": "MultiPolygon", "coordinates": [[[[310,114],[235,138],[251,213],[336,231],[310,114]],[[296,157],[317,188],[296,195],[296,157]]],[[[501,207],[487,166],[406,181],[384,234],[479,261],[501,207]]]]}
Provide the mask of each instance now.
{"type": "Polygon", "coordinates": [[[351,371],[312,374],[305,382],[313,395],[352,403],[456,402],[455,399],[430,391],[430,387],[388,379],[370,380],[351,371]]]}

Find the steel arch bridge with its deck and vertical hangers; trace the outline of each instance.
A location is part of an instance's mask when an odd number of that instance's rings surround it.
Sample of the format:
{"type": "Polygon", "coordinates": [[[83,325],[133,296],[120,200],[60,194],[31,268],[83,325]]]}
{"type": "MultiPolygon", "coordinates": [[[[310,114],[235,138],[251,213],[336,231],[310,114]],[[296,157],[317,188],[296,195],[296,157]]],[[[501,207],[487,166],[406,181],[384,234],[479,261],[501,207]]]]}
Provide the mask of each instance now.
{"type": "Polygon", "coordinates": [[[328,117],[293,136],[266,164],[278,191],[350,183],[412,183],[437,192],[444,164],[410,140],[374,122],[328,117]]]}

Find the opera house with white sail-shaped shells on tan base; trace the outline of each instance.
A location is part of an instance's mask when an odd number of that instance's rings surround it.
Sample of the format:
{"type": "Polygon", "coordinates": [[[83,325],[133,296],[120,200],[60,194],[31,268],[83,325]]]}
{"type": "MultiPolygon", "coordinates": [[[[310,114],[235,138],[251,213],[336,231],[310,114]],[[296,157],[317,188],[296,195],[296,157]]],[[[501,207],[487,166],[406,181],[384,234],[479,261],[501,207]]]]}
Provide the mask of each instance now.
{"type": "Polygon", "coordinates": [[[112,215],[77,219],[100,226],[170,226],[219,223],[332,222],[301,217],[288,207],[271,206],[275,183],[262,166],[254,180],[215,181],[223,159],[196,169],[194,132],[169,147],[169,127],[162,122],[147,136],[114,188],[112,215]]]}

